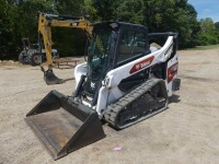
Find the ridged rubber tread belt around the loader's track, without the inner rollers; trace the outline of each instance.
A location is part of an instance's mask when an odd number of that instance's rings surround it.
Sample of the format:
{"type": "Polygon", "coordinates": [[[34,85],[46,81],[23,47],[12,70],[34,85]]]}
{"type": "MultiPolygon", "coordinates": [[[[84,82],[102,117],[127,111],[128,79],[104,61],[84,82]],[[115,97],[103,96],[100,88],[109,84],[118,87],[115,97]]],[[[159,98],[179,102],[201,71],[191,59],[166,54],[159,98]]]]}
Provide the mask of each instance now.
{"type": "Polygon", "coordinates": [[[108,105],[105,110],[105,114],[104,114],[105,120],[116,129],[124,129],[126,127],[129,127],[134,124],[137,124],[148,117],[151,117],[151,116],[164,110],[168,107],[168,97],[166,97],[166,104],[163,108],[155,110],[154,113],[151,113],[150,115],[146,115],[145,117],[140,117],[136,121],[129,122],[123,127],[119,127],[118,125],[116,125],[117,115],[120,113],[122,109],[124,109],[124,107],[126,107],[129,104],[131,104],[132,102],[135,102],[142,94],[147,93],[151,87],[153,87],[161,81],[162,80],[160,80],[160,79],[152,78],[152,79],[146,81],[145,83],[142,83],[140,86],[132,90],[131,92],[129,92],[128,94],[126,94],[125,96],[123,96],[122,98],[119,98],[115,104],[108,105]]]}

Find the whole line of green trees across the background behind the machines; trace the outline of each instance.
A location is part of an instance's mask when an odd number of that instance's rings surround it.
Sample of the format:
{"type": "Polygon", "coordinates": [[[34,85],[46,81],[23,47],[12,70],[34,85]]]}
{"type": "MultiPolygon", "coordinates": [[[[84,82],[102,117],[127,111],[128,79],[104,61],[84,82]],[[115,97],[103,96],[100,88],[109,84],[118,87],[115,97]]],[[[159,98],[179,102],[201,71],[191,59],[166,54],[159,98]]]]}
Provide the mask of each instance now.
{"type": "MultiPolygon", "coordinates": [[[[187,0],[0,0],[0,59],[16,59],[22,37],[37,42],[39,12],[138,23],[150,33],[177,32],[180,48],[219,44],[219,22],[198,21],[187,0]]],[[[79,31],[54,28],[53,39],[60,54],[84,54],[85,36],[79,31]]]]}

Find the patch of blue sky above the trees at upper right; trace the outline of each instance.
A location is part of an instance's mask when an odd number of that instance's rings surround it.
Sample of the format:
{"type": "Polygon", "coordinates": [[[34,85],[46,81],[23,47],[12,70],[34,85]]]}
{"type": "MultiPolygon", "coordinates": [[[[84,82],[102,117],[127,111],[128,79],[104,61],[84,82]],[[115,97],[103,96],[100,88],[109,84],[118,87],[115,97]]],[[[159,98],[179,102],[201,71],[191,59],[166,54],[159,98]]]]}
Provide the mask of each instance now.
{"type": "Polygon", "coordinates": [[[198,20],[211,17],[214,22],[219,22],[219,0],[188,0],[198,13],[198,20]]]}

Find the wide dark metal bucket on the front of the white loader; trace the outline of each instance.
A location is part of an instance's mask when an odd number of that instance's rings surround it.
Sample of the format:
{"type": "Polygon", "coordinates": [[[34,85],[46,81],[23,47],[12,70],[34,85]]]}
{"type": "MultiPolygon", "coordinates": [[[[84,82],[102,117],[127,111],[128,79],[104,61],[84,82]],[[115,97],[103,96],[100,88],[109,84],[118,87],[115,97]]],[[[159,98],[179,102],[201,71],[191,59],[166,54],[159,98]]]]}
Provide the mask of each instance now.
{"type": "Polygon", "coordinates": [[[51,91],[25,118],[54,160],[105,137],[97,113],[51,91]]]}

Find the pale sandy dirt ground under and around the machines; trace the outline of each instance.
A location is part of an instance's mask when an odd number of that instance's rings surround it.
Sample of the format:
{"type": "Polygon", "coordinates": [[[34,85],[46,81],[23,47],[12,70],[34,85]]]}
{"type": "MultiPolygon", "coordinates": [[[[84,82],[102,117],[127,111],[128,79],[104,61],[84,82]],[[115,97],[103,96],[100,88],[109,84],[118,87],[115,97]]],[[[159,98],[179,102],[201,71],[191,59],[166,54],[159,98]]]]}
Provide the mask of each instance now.
{"type": "Polygon", "coordinates": [[[48,86],[37,67],[0,65],[0,164],[219,163],[219,49],[180,55],[182,86],[166,110],[122,131],[104,125],[105,139],[56,162],[24,117],[51,90],[70,95],[74,81],[48,86]]]}

